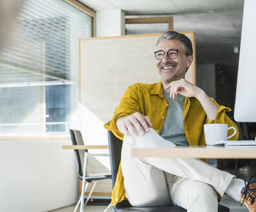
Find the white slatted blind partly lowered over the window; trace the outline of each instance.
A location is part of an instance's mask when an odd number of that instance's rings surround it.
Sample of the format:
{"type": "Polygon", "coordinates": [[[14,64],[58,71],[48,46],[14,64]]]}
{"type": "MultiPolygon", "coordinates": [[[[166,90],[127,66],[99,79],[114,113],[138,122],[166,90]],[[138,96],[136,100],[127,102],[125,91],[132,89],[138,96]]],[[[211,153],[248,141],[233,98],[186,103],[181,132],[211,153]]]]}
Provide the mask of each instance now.
{"type": "Polygon", "coordinates": [[[91,36],[92,17],[69,3],[24,1],[0,50],[0,83],[69,81],[71,67],[78,69],[78,38],[91,36]]]}

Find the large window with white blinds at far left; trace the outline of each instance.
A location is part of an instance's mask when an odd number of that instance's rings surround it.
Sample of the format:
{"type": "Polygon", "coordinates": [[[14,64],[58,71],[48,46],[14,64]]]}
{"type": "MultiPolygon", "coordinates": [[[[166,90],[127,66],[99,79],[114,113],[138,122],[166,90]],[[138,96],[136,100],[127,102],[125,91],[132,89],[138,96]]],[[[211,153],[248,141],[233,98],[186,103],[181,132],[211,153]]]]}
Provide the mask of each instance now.
{"type": "Polygon", "coordinates": [[[62,0],[27,0],[0,49],[0,134],[67,134],[78,109],[78,38],[92,17],[62,0]]]}

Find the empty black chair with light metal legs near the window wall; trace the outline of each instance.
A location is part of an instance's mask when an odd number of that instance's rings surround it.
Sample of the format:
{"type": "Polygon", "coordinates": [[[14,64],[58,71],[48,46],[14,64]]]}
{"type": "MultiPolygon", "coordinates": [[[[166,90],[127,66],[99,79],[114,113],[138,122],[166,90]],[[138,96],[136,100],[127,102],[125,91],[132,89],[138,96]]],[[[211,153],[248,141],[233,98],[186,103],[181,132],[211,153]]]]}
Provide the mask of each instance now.
{"type": "MultiPolygon", "coordinates": [[[[82,137],[80,131],[70,129],[69,132],[70,132],[70,137],[71,137],[73,145],[84,145],[83,137],[82,137]]],[[[85,150],[74,149],[74,153],[75,153],[75,156],[76,156],[76,168],[77,168],[77,171],[78,171],[78,178],[80,180],[83,180],[83,171],[85,171],[85,181],[84,181],[85,184],[82,184],[82,191],[83,191],[83,188],[84,188],[84,193],[85,193],[89,184],[91,184],[91,182],[94,181],[94,184],[93,184],[92,189],[89,193],[89,196],[88,196],[85,204],[83,205],[83,207],[85,207],[87,205],[87,202],[91,198],[92,191],[94,190],[94,187],[96,186],[96,183],[98,182],[98,180],[111,179],[111,175],[98,175],[98,176],[86,175],[86,167],[87,166],[85,166],[85,170],[83,170],[82,164],[84,164],[84,162],[85,163],[87,162],[87,156],[109,156],[109,154],[88,153],[87,149],[85,149],[85,150]]],[[[82,197],[82,195],[80,194],[80,198],[78,200],[78,203],[76,204],[76,207],[74,208],[74,212],[78,209],[78,206],[81,202],[81,197],[82,197]]]]}

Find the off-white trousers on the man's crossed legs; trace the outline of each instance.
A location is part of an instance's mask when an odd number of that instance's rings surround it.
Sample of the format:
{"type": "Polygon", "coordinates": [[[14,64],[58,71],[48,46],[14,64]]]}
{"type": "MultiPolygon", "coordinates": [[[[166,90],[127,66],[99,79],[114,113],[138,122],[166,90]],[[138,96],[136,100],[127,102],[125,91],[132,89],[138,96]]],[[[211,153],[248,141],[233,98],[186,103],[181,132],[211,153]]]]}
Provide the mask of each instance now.
{"type": "Polygon", "coordinates": [[[235,177],[196,158],[133,158],[132,148],[175,147],[154,129],[144,136],[125,136],[122,173],[132,206],[184,207],[188,212],[217,212],[220,195],[235,177]]]}

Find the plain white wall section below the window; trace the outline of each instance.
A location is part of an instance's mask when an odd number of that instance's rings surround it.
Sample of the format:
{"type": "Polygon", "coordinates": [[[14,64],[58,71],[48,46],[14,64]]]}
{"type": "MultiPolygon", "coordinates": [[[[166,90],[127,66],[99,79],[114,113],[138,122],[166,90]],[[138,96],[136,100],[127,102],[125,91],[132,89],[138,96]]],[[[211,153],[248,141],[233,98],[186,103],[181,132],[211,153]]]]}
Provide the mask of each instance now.
{"type": "Polygon", "coordinates": [[[50,211],[74,204],[78,177],[70,141],[0,141],[0,211],[50,211]]]}

